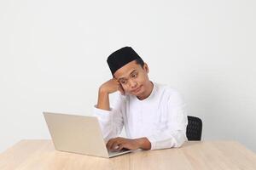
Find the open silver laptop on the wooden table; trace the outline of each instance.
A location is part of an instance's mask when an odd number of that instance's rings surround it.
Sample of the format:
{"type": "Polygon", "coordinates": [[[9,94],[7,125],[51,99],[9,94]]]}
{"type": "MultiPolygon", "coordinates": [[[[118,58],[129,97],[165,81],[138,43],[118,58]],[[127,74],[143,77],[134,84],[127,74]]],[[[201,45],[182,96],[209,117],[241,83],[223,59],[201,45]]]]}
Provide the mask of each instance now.
{"type": "Polygon", "coordinates": [[[76,116],[44,112],[44,119],[55,150],[110,158],[131,152],[108,151],[98,119],[94,116],[76,116]]]}

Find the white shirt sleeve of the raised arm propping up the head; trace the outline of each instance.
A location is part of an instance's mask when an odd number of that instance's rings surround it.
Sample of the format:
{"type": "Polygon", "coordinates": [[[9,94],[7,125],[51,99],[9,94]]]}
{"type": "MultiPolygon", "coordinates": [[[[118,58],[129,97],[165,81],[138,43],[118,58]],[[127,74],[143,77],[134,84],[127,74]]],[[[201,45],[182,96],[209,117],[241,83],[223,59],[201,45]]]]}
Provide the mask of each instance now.
{"type": "Polygon", "coordinates": [[[93,116],[97,117],[103,138],[106,142],[109,139],[117,137],[124,126],[123,113],[125,111],[125,100],[120,95],[118,94],[115,97],[110,111],[98,109],[96,105],[93,108],[93,116]]]}

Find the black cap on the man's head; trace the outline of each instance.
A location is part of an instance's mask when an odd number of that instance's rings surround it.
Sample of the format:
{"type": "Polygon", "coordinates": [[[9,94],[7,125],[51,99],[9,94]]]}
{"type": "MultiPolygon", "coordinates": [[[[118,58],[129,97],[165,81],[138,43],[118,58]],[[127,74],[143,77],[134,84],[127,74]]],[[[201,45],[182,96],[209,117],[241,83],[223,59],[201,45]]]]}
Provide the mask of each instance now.
{"type": "Polygon", "coordinates": [[[113,75],[115,71],[119,70],[119,68],[135,59],[138,59],[143,63],[143,59],[131,47],[124,47],[113,52],[113,54],[110,54],[107,62],[113,75]]]}

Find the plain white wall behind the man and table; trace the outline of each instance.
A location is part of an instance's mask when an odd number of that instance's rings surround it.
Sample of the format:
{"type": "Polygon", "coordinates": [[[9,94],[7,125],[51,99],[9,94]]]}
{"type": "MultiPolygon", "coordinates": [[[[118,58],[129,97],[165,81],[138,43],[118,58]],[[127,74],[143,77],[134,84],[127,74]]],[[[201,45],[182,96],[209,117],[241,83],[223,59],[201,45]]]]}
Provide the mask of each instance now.
{"type": "Polygon", "coordinates": [[[131,46],[154,82],[177,88],[202,139],[256,151],[256,1],[0,1],[0,152],[49,139],[43,111],[91,115],[131,46]]]}

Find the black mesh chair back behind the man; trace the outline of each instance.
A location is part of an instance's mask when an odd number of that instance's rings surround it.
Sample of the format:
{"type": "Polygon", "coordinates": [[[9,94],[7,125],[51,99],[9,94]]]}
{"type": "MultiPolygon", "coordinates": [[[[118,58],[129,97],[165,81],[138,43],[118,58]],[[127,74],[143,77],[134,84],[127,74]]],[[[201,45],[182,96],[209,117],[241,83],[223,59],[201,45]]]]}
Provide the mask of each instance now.
{"type": "Polygon", "coordinates": [[[188,140],[201,140],[202,122],[199,117],[188,116],[187,138],[188,140]]]}

